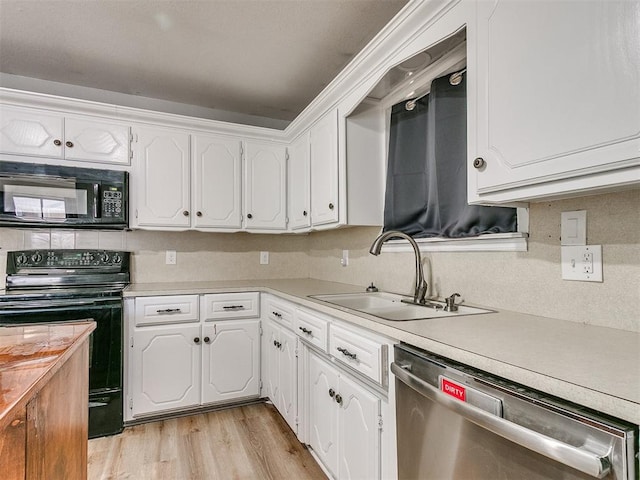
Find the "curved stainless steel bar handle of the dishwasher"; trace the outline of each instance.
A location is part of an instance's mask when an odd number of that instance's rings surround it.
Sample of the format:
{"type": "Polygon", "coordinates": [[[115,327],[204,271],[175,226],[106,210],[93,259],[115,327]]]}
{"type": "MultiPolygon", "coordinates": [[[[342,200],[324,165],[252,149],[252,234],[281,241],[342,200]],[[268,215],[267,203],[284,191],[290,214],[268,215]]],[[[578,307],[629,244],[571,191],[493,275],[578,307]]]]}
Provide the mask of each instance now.
{"type": "Polygon", "coordinates": [[[433,385],[412,374],[406,366],[391,364],[391,371],[402,383],[414,389],[420,395],[452,410],[470,422],[493,432],[513,443],[575,468],[595,478],[605,477],[611,470],[608,456],[599,456],[578,447],[566,444],[555,438],[529,430],[473,405],[457,400],[442,393],[433,385]]]}

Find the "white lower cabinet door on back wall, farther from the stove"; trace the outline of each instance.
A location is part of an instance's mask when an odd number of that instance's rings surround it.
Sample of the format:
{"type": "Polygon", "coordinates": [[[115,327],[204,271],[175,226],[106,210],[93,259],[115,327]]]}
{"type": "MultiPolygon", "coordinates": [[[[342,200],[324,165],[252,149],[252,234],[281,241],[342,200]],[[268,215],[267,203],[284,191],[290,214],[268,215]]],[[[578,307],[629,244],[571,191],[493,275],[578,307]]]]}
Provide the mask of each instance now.
{"type": "Polygon", "coordinates": [[[202,403],[260,394],[260,321],[227,320],[202,329],[202,403]]]}

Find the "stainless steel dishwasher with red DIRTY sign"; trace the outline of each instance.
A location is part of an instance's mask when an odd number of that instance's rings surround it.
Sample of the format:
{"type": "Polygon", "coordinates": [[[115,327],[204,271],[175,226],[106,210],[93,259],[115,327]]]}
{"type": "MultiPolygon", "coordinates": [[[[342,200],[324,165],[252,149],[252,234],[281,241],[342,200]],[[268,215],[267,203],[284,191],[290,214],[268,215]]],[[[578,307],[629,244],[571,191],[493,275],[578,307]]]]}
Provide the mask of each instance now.
{"type": "Polygon", "coordinates": [[[638,478],[638,427],[395,347],[399,479],[638,478]]]}

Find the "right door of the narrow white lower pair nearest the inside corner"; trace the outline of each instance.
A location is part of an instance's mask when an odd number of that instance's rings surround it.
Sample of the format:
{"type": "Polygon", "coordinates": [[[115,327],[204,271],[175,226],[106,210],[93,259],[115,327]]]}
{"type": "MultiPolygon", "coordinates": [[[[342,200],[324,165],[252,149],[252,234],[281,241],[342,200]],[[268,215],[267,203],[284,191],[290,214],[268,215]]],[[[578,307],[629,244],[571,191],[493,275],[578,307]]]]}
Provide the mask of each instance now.
{"type": "Polygon", "coordinates": [[[278,410],[291,429],[297,433],[296,426],[296,335],[286,329],[280,330],[280,359],[278,368],[278,410]]]}

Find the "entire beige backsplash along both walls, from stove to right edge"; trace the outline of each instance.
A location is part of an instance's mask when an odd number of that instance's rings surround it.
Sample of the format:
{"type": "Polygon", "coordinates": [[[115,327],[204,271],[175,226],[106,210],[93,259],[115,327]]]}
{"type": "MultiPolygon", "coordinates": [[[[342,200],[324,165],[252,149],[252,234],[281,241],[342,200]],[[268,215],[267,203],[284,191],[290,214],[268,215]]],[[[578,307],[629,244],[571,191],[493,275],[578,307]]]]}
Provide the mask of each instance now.
{"type": "MultiPolygon", "coordinates": [[[[0,228],[0,273],[6,251],[23,248],[105,248],[134,253],[134,282],[317,278],[410,293],[413,254],[374,257],[379,228],[354,227],[309,235],[201,232],[19,230],[0,228]],[[177,264],[165,264],[166,250],[177,264]],[[342,250],[349,266],[342,267],[342,250]],[[260,265],[260,251],[269,264],[260,265]]],[[[527,252],[426,253],[430,293],[544,317],[640,332],[640,190],[533,203],[527,252]],[[560,213],[587,210],[587,243],[603,247],[603,283],[561,279],[560,213]]]]}

